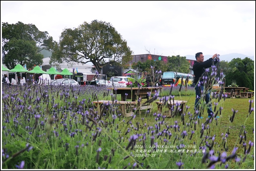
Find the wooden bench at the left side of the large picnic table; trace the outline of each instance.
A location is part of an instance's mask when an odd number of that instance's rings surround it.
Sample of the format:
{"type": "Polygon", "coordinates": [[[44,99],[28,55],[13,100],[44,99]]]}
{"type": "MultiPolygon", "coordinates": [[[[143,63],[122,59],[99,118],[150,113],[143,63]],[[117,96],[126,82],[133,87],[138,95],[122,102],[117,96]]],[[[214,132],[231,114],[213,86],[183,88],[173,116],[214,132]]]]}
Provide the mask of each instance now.
{"type": "Polygon", "coordinates": [[[110,100],[99,100],[99,101],[93,101],[95,106],[98,108],[98,112],[100,113],[102,111],[102,105],[120,105],[122,115],[124,117],[129,117],[134,115],[133,107],[138,103],[136,101],[115,101],[112,103],[110,100]]]}

